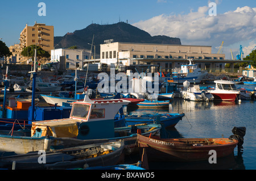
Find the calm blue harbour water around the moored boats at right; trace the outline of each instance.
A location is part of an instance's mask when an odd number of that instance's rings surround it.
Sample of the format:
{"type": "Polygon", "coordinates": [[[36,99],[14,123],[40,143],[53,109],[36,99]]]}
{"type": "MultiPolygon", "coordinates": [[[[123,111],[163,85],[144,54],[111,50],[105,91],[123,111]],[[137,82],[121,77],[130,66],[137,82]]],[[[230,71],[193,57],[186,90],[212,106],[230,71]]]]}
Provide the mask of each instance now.
{"type": "MultiPolygon", "coordinates": [[[[254,89],[255,86],[236,85],[254,89]]],[[[174,129],[167,129],[161,136],[167,138],[220,138],[233,135],[234,127],[246,127],[243,149],[234,149],[234,155],[217,159],[217,163],[205,162],[151,162],[150,169],[256,169],[256,101],[234,102],[193,102],[175,98],[168,109],[127,109],[129,115],[144,113],[184,112],[185,116],[174,129]]]]}

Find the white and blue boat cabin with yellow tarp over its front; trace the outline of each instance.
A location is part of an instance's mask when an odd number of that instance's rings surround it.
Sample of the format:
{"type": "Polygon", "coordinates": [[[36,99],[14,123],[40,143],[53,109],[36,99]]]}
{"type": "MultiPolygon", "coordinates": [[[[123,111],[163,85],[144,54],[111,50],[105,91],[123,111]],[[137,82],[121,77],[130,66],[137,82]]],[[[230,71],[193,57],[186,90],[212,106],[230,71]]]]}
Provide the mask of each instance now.
{"type": "MultiPolygon", "coordinates": [[[[85,98],[86,99],[86,98],[85,98]]],[[[68,119],[32,122],[31,136],[72,137],[82,140],[114,137],[114,117],[130,101],[84,100],[74,102],[68,119]]]]}

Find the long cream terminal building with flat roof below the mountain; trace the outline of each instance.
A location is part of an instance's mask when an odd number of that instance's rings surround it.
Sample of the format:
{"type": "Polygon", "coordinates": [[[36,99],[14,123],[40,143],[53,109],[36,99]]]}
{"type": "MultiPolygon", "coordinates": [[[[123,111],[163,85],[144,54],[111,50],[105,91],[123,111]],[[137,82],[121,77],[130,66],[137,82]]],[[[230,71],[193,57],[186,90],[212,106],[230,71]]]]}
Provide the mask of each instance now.
{"type": "Polygon", "coordinates": [[[225,68],[225,54],[212,53],[210,46],[115,42],[101,44],[100,56],[101,63],[108,65],[158,65],[162,71],[188,64],[188,58],[201,69],[222,71],[225,68]]]}

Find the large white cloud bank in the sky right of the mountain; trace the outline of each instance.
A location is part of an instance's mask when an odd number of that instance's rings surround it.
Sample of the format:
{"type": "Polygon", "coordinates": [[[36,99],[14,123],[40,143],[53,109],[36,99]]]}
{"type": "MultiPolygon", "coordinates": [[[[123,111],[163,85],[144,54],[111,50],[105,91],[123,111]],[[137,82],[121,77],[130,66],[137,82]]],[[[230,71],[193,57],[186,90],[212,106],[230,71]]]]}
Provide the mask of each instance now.
{"type": "Polygon", "coordinates": [[[217,13],[217,16],[209,16],[209,9],[208,6],[203,6],[188,14],[162,14],[133,25],[152,36],[179,37],[181,44],[210,45],[213,48],[220,46],[222,41],[225,46],[241,41],[255,44],[256,7],[237,7],[234,11],[217,13]]]}

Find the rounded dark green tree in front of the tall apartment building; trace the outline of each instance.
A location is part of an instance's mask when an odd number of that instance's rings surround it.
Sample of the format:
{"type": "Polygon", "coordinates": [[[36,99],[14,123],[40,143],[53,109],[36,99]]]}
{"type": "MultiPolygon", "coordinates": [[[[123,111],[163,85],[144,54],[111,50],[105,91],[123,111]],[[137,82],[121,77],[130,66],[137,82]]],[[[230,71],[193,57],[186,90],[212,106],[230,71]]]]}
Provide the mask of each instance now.
{"type": "Polygon", "coordinates": [[[24,48],[20,54],[24,57],[34,57],[35,47],[36,47],[36,57],[48,58],[51,56],[47,51],[43,50],[41,47],[38,47],[37,45],[30,45],[29,47],[24,48]]]}

